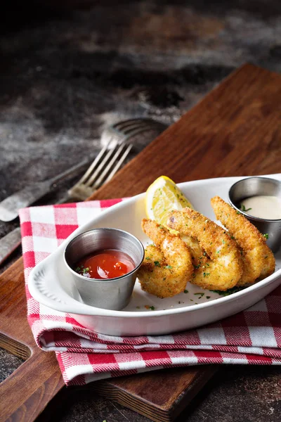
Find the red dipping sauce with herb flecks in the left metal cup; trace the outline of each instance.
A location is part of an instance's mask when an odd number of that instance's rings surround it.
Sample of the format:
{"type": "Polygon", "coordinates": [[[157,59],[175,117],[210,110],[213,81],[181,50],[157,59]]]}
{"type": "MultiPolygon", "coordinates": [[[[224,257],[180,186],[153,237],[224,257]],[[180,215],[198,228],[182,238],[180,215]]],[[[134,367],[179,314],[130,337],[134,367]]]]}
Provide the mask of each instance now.
{"type": "Polygon", "coordinates": [[[77,262],[74,271],[89,279],[115,279],[133,271],[131,257],[120,250],[100,250],[77,262]]]}

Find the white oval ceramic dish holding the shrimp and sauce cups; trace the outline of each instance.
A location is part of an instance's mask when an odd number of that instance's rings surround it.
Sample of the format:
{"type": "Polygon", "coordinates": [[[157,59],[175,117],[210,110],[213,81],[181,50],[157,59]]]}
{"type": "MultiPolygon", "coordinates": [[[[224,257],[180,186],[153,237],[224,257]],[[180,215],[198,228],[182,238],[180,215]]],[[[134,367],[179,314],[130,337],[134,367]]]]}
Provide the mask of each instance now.
{"type": "MultiPolygon", "coordinates": [[[[268,175],[281,180],[281,174],[268,175]]],[[[189,181],[179,184],[195,209],[214,219],[210,199],[221,196],[228,201],[228,190],[242,177],[227,177],[189,181]]],[[[89,211],[90,212],[90,211],[89,211]]],[[[144,245],[151,243],[141,230],[145,217],[145,193],[113,205],[98,217],[80,226],[60,247],[30,273],[28,288],[38,302],[61,312],[67,312],[79,324],[97,333],[108,335],[162,335],[197,328],[254,305],[281,283],[281,251],[275,254],[275,273],[240,292],[222,297],[190,283],[188,293],[174,298],[159,299],[143,292],[136,281],[129,305],[122,311],[112,311],[85,305],[65,267],[63,252],[67,243],[78,234],[96,227],[114,227],[129,231],[144,245]],[[152,309],[151,309],[152,307],[152,309]],[[153,309],[154,308],[154,309],[153,309]]]]}

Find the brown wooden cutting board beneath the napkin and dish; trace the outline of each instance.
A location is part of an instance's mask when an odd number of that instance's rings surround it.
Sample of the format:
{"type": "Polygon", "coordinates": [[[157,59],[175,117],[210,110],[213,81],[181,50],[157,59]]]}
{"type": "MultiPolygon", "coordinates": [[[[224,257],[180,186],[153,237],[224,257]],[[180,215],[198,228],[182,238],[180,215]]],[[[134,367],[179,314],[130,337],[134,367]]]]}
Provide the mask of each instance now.
{"type": "MultiPolygon", "coordinates": [[[[280,112],[281,76],[244,65],[91,199],[141,193],[162,174],[178,183],[280,172],[280,112]]],[[[37,348],[27,324],[22,260],[0,276],[0,295],[0,347],[25,359],[0,385],[0,415],[4,421],[34,421],[62,390],[63,380],[55,355],[37,348]]],[[[85,388],[153,421],[172,421],[214,371],[214,366],[169,369],[98,381],[85,388]]]]}

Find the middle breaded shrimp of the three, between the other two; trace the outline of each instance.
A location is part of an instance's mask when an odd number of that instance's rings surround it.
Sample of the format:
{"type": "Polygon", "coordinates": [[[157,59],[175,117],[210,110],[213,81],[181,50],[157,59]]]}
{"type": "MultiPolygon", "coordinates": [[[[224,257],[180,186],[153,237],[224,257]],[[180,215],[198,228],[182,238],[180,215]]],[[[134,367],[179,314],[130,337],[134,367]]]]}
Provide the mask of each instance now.
{"type": "Polygon", "coordinates": [[[190,208],[172,211],[167,225],[197,238],[209,259],[195,267],[190,283],[210,290],[228,290],[242,275],[240,250],[233,239],[216,223],[190,208]]]}

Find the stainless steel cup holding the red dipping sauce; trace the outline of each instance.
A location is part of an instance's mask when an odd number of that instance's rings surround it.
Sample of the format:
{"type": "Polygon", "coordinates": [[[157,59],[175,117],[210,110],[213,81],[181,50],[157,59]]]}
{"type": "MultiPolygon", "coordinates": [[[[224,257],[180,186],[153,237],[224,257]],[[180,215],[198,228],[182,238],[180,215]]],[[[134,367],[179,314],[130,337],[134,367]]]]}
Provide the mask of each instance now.
{"type": "Polygon", "coordinates": [[[86,305],[120,310],[128,305],[136,282],[136,274],[144,257],[141,241],[119,229],[93,229],[79,234],[65,248],[64,260],[74,283],[86,305]],[[135,267],[128,274],[115,279],[88,279],[74,271],[74,265],[92,253],[115,249],[126,253],[135,267]]]}

